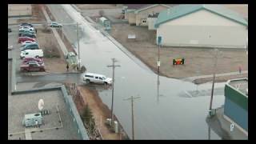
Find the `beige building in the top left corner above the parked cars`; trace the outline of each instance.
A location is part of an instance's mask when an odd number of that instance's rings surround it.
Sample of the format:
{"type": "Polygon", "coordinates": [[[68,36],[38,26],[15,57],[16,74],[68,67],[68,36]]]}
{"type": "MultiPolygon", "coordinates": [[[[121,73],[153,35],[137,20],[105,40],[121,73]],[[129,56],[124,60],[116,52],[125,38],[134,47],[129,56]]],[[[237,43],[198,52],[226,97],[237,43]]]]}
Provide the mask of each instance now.
{"type": "Polygon", "coordinates": [[[32,7],[30,4],[10,4],[8,5],[8,17],[31,16],[32,7]]]}

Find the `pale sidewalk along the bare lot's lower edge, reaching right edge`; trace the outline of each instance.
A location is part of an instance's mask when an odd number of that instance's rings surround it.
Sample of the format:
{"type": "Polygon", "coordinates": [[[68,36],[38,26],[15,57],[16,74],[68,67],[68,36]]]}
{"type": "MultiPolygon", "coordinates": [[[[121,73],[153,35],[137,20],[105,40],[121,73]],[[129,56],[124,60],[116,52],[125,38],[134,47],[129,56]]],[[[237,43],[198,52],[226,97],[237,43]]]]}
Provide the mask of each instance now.
{"type": "MultiPolygon", "coordinates": [[[[248,70],[244,70],[242,71],[241,74],[247,74],[248,70]]],[[[230,73],[222,73],[222,74],[215,74],[215,77],[222,77],[222,76],[230,76],[230,75],[238,75],[239,72],[230,72],[230,73]]],[[[189,77],[189,78],[183,78],[183,81],[189,81],[189,82],[193,82],[195,79],[200,79],[200,78],[212,78],[213,74],[209,74],[209,75],[200,75],[200,76],[195,76],[195,77],[189,77]]]]}

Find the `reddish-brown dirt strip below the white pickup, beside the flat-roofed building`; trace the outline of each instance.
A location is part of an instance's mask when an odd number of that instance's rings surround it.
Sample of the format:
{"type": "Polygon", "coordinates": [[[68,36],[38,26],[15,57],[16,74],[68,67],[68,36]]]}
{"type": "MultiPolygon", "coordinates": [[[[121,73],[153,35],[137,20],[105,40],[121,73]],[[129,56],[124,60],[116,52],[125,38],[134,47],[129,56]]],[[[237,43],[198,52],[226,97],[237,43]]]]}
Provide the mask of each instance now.
{"type": "Polygon", "coordinates": [[[103,104],[102,99],[98,97],[97,91],[86,86],[78,86],[78,90],[81,91],[82,97],[85,98],[86,103],[92,110],[102,137],[104,139],[120,139],[119,134],[110,132],[105,125],[106,118],[110,118],[110,110],[103,104]]]}

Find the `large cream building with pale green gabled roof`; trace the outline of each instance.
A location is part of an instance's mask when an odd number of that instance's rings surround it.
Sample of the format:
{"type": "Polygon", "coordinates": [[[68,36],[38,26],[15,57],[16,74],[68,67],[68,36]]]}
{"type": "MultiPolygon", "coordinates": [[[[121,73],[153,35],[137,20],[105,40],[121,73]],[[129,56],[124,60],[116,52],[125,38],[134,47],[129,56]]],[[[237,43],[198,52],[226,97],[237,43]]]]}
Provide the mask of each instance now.
{"type": "Polygon", "coordinates": [[[179,5],[164,10],[155,22],[164,46],[245,48],[248,23],[220,5],[179,5]]]}

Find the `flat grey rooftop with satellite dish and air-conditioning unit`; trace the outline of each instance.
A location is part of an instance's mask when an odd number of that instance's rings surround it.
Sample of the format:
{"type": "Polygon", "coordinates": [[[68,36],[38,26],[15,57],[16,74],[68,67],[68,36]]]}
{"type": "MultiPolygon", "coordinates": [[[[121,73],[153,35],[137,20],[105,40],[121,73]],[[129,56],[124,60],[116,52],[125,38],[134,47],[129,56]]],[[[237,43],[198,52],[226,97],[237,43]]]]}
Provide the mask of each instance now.
{"type": "Polygon", "coordinates": [[[9,95],[8,139],[80,139],[69,111],[61,90],[9,95]],[[22,126],[25,114],[39,112],[38,100],[41,98],[44,110],[50,110],[50,114],[43,115],[43,125],[40,128],[22,126]]]}

